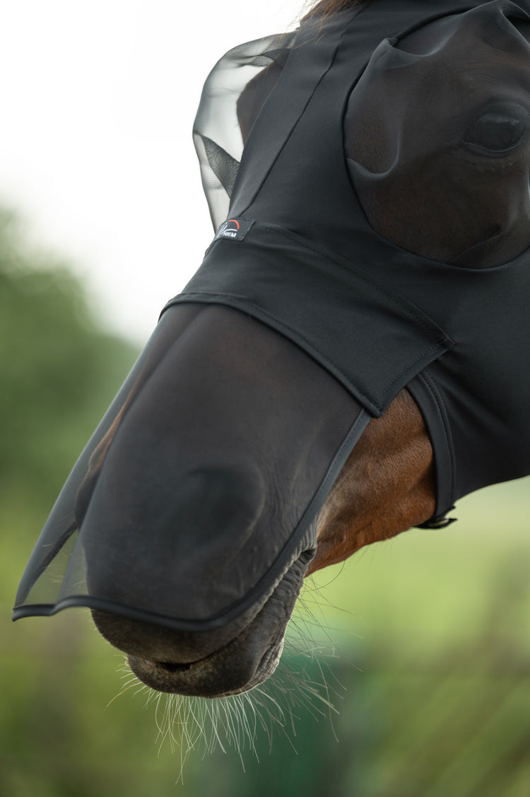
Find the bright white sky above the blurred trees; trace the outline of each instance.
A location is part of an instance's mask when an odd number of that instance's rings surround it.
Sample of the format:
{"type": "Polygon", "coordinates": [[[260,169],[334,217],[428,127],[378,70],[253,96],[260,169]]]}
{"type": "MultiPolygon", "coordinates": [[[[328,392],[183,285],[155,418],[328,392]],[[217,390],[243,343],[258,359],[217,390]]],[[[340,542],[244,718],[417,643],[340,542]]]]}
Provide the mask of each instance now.
{"type": "Polygon", "coordinates": [[[0,202],[142,343],[213,235],[191,142],[202,83],[303,0],[7,0],[0,202]]]}

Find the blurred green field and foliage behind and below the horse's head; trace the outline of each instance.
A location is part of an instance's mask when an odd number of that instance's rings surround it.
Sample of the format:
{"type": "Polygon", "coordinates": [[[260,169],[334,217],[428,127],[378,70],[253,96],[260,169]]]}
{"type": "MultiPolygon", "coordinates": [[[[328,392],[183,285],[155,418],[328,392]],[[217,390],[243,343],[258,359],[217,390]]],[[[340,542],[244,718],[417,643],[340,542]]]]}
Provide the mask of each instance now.
{"type": "Polygon", "coordinates": [[[10,620],[45,517],[137,352],[6,211],[0,325],[0,797],[530,795],[527,480],[308,583],[261,697],[272,742],[258,728],[241,756],[197,744],[176,783],[179,747],[157,739],[144,691],[120,694],[123,657],[87,613],[10,620]],[[304,705],[311,689],[336,710],[304,705]]]}

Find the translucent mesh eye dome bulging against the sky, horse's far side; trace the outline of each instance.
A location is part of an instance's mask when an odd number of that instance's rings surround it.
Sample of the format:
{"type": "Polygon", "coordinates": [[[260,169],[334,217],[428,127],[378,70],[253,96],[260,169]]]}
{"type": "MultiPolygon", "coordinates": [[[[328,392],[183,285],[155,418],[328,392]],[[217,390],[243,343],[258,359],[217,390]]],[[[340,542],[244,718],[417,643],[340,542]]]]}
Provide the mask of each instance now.
{"type": "Polygon", "coordinates": [[[249,41],[226,53],[202,89],[194,144],[214,230],[229,215],[230,196],[246,139],[272,92],[294,33],[249,41]]]}

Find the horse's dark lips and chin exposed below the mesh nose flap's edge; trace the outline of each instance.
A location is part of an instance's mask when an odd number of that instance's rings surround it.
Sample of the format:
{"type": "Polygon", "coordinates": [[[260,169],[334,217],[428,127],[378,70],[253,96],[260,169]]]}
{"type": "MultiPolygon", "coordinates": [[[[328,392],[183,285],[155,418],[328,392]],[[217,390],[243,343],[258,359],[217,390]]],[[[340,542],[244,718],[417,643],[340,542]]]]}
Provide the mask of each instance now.
{"type": "Polygon", "coordinates": [[[248,619],[245,613],[242,628],[236,622],[195,634],[102,611],[92,611],[92,617],[100,634],[128,654],[132,672],[151,689],[194,697],[237,695],[261,684],[277,668],[307,567],[304,555],[292,563],[253,616],[248,619]]]}

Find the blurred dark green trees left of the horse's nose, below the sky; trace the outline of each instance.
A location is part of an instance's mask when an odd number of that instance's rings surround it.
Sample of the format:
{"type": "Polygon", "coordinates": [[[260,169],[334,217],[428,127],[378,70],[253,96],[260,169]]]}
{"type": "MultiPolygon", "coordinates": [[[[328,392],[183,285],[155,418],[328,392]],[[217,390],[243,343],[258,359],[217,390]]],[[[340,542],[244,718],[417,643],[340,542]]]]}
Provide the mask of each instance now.
{"type": "Polygon", "coordinates": [[[20,222],[0,212],[0,497],[22,481],[33,500],[53,499],[131,359],[69,269],[26,248],[20,222]]]}

